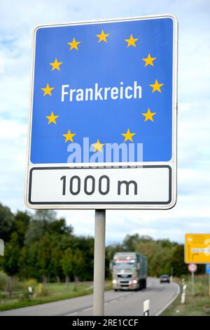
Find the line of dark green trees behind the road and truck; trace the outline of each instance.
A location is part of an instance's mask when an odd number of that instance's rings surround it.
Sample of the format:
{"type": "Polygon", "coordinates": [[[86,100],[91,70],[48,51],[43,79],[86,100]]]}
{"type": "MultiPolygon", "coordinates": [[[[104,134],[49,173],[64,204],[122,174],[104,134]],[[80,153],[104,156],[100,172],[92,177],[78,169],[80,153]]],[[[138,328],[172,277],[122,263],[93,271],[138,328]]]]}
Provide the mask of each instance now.
{"type": "MultiPolygon", "coordinates": [[[[74,235],[73,227],[66,225],[64,218],[57,218],[55,211],[12,213],[0,204],[0,238],[5,242],[0,270],[11,277],[35,278],[38,282],[92,280],[94,238],[74,235]]],[[[182,244],[136,234],[127,235],[120,244],[106,246],[106,278],[111,276],[109,263],[117,251],[147,256],[151,276],[180,277],[188,272],[182,244]]],[[[198,272],[204,272],[202,265],[198,272]]]]}

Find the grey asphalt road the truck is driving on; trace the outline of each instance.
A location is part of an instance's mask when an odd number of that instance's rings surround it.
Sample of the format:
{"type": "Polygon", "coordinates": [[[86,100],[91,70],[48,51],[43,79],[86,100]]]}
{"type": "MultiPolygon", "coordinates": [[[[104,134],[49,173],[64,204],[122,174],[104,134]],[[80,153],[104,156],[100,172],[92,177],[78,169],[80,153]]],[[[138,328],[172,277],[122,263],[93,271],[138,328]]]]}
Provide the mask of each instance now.
{"type": "MultiPolygon", "coordinates": [[[[149,278],[147,289],[141,291],[106,291],[105,315],[118,316],[143,315],[143,303],[151,301],[151,315],[159,315],[167,305],[179,294],[179,286],[175,283],[160,284],[158,279],[149,278]]],[[[45,303],[16,310],[1,312],[1,316],[87,316],[92,315],[92,295],[66,299],[55,303],[45,303]]]]}

